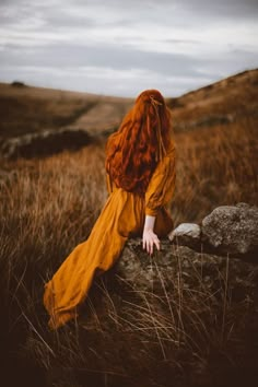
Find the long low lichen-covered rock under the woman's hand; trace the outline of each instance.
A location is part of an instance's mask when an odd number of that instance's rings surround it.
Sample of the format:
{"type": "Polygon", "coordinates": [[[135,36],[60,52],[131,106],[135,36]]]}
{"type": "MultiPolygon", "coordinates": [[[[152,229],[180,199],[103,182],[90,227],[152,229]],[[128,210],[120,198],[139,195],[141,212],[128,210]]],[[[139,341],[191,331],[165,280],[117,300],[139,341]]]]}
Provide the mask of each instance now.
{"type": "MultiPolygon", "coordinates": [[[[216,292],[227,279],[232,296],[246,296],[246,290],[257,295],[258,266],[237,258],[197,253],[187,246],[161,241],[161,250],[150,256],[140,238],[129,239],[115,266],[116,278],[136,291],[206,286],[216,292]]],[[[254,294],[253,294],[254,295],[254,294]]]]}

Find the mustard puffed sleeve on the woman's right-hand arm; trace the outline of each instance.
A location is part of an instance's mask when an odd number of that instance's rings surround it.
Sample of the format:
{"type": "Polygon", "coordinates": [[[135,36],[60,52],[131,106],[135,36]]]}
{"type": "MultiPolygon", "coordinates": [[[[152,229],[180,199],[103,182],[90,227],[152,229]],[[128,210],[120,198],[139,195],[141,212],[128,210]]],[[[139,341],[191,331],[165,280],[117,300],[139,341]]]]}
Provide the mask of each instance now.
{"type": "Polygon", "coordinates": [[[157,164],[145,192],[145,214],[155,216],[172,199],[176,183],[176,149],[172,143],[157,164]]]}

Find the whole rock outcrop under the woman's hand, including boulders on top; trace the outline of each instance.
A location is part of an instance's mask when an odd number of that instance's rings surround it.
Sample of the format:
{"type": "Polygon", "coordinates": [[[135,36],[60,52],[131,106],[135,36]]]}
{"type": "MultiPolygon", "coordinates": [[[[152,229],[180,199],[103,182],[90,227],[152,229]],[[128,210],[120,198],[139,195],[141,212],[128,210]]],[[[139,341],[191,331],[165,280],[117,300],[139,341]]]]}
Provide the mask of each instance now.
{"type": "Polygon", "coordinates": [[[222,206],[201,225],[180,224],[153,256],[142,249],[141,238],[129,239],[115,266],[116,275],[144,291],[168,289],[179,281],[181,289],[204,284],[215,292],[228,281],[234,294],[244,297],[248,289],[258,300],[257,222],[257,207],[222,206]]]}

